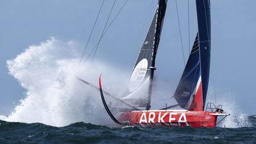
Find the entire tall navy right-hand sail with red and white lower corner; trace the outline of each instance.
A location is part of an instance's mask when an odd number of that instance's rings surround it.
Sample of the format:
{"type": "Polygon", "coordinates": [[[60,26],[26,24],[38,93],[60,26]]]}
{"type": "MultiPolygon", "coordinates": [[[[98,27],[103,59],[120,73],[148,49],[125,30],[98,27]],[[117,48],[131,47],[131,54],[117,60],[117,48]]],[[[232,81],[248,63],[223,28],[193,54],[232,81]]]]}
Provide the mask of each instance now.
{"type": "Polygon", "coordinates": [[[198,30],[193,49],[174,93],[187,110],[204,110],[210,71],[210,1],[196,0],[198,30]]]}

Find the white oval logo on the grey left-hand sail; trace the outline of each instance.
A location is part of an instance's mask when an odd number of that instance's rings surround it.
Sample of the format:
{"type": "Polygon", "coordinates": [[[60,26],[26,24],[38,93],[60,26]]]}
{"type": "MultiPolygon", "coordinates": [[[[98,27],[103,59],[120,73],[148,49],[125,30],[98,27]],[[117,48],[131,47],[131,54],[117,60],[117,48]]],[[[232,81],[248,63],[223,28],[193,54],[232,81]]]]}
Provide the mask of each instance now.
{"type": "Polygon", "coordinates": [[[143,79],[145,78],[146,71],[148,70],[148,60],[142,59],[137,63],[132,76],[130,77],[129,89],[131,92],[135,91],[140,86],[143,79]]]}

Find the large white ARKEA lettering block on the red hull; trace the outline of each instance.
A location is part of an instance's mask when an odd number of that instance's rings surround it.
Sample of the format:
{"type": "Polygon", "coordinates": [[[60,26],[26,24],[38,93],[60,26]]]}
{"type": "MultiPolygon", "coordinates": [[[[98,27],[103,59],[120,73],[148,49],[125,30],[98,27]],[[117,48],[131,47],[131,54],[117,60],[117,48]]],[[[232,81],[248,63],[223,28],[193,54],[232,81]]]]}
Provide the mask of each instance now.
{"type": "Polygon", "coordinates": [[[167,126],[181,126],[181,123],[184,123],[186,126],[189,126],[187,123],[187,117],[185,113],[169,113],[169,112],[150,112],[142,113],[139,120],[140,124],[156,124],[161,125],[165,124],[167,126]]]}

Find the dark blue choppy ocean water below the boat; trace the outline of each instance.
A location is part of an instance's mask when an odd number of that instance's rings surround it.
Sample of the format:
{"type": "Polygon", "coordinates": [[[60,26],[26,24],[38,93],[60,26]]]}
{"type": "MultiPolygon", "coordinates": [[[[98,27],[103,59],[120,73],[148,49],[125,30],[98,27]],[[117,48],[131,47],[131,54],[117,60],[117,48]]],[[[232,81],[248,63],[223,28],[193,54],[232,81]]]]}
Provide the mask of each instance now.
{"type": "Polygon", "coordinates": [[[107,127],[78,122],[64,127],[0,121],[0,143],[256,143],[250,127],[107,127]]]}

